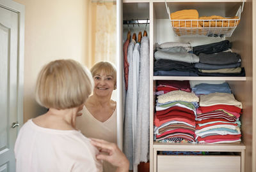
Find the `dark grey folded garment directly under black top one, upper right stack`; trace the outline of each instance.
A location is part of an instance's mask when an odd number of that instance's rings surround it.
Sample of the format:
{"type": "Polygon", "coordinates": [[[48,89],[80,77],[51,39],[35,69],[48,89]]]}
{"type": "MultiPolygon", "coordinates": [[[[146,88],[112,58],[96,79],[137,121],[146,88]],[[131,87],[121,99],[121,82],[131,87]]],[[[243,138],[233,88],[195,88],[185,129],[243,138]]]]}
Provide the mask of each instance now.
{"type": "Polygon", "coordinates": [[[220,52],[217,54],[199,54],[199,62],[204,64],[235,64],[241,62],[241,56],[234,52],[220,52]]]}

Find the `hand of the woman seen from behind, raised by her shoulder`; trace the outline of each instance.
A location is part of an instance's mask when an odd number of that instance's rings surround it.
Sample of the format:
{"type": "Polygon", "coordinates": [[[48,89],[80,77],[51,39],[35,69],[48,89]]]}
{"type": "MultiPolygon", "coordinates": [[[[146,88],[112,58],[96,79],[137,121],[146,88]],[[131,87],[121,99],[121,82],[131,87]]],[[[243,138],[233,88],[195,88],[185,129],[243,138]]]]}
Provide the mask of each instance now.
{"type": "Polygon", "coordinates": [[[108,161],[113,166],[116,166],[116,172],[129,171],[129,161],[115,143],[109,143],[108,141],[95,138],[90,139],[92,145],[100,151],[100,154],[96,155],[97,159],[108,161]]]}

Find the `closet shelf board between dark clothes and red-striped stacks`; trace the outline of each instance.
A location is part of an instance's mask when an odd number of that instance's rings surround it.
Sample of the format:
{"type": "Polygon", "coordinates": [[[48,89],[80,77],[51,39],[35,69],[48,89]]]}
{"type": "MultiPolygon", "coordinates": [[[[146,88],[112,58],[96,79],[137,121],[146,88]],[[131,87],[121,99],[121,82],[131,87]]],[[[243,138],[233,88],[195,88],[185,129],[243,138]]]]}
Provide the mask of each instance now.
{"type": "Polygon", "coordinates": [[[206,80],[206,81],[245,81],[245,76],[224,77],[224,76],[153,76],[153,80],[206,80]]]}

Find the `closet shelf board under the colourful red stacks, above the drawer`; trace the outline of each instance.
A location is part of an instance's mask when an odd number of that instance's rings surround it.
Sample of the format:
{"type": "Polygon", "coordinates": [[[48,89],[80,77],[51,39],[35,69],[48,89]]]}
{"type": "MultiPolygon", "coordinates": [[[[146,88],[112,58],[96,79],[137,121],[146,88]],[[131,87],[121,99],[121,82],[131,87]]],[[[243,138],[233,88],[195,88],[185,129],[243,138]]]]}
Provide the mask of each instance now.
{"type": "Polygon", "coordinates": [[[209,152],[240,152],[245,145],[240,144],[194,144],[194,143],[158,143],[154,142],[154,150],[168,151],[209,151],[209,152]]]}

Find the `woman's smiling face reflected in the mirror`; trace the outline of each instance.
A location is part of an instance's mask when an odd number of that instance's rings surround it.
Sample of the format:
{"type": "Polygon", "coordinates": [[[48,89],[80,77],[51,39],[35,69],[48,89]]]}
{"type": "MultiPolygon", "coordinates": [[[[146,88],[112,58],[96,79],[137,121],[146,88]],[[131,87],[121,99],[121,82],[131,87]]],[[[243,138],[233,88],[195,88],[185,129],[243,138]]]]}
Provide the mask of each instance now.
{"type": "Polygon", "coordinates": [[[115,81],[113,79],[113,76],[104,73],[104,71],[100,71],[95,76],[93,76],[93,80],[93,94],[100,97],[111,97],[111,94],[115,87],[115,81]]]}

